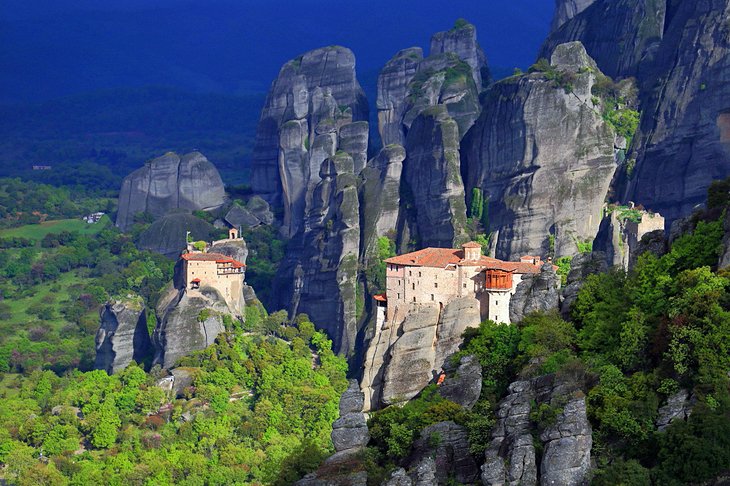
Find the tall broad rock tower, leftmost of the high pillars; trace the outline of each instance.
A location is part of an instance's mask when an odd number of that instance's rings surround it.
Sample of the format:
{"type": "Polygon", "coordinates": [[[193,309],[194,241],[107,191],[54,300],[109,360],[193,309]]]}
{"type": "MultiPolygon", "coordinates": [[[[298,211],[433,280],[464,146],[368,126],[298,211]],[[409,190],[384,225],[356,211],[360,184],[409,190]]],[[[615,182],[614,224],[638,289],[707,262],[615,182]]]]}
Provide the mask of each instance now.
{"type": "MultiPolygon", "coordinates": [[[[251,187],[274,207],[284,207],[284,233],[301,225],[319,181],[319,167],[338,150],[338,131],[368,119],[365,94],[355,76],[355,56],[344,47],[315,49],[279,71],[256,131],[251,187]]],[[[365,162],[367,125],[340,133],[356,168],[365,162]],[[356,154],[354,152],[357,152],[356,154]]]]}

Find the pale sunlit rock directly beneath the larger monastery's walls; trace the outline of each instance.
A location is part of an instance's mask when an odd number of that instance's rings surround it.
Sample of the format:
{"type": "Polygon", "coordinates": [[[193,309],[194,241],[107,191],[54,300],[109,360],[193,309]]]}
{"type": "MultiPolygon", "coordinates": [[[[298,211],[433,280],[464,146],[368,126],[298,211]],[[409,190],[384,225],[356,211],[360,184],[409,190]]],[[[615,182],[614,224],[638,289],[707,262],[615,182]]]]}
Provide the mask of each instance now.
{"type": "Polygon", "coordinates": [[[412,304],[404,318],[375,332],[364,360],[365,410],[410,400],[431,383],[458,351],[461,335],[481,322],[476,299],[439,306],[412,304]]]}

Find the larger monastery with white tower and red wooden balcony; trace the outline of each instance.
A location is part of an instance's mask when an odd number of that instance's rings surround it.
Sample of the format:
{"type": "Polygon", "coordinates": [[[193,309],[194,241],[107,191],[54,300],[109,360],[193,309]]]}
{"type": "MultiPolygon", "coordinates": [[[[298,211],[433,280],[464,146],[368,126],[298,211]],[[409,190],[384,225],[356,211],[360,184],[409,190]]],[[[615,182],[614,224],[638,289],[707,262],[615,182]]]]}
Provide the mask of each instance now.
{"type": "Polygon", "coordinates": [[[411,304],[437,303],[473,296],[479,302],[481,319],[510,323],[509,303],[522,276],[539,273],[542,260],[524,256],[505,262],[482,255],[479,243],[461,249],[425,248],[385,260],[384,294],[376,295],[378,327],[400,322],[411,304]]]}

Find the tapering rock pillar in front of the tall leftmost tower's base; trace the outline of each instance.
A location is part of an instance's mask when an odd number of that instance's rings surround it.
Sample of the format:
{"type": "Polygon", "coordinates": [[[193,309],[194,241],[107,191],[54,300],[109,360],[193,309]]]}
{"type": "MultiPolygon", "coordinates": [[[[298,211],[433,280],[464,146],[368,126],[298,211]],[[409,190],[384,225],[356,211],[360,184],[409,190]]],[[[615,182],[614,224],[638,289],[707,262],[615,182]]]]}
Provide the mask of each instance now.
{"type": "Polygon", "coordinates": [[[278,304],[291,315],[308,314],[341,353],[353,350],[357,334],[360,215],[353,164],[346,152],[321,164],[304,225],[290,241],[274,281],[278,304]]]}

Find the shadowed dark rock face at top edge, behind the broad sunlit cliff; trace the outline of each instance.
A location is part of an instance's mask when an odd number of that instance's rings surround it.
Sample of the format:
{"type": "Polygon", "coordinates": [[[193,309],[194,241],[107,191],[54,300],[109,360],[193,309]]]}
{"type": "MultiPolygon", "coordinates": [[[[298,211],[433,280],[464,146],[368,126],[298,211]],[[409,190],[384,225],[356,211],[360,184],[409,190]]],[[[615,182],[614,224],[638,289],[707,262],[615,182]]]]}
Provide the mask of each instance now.
{"type": "Polygon", "coordinates": [[[558,0],[553,31],[540,57],[580,41],[607,75],[637,76],[664,34],[665,0],[558,0]]]}

